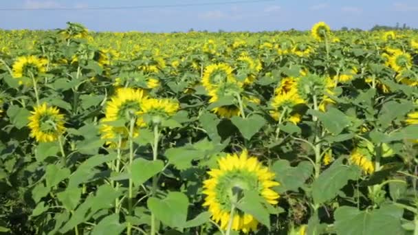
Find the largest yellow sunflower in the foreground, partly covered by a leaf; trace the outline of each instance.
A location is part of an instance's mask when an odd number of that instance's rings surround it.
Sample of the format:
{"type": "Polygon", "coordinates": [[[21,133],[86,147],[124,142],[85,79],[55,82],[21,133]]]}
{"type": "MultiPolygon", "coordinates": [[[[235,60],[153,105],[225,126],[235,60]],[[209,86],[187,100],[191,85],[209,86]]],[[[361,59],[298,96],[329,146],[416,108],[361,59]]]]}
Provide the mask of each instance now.
{"type": "MultiPolygon", "coordinates": [[[[219,223],[223,230],[230,221],[232,203],[237,202],[237,195],[234,194],[236,190],[256,191],[267,203],[278,203],[279,195],[271,189],[279,185],[274,181],[274,173],[263,166],[256,157],[248,156],[247,150],[243,150],[240,155],[234,153],[221,157],[218,165],[219,168],[208,172],[210,178],[203,181],[203,194],[206,194],[203,205],[208,206],[212,219],[219,223]]],[[[254,216],[235,210],[232,230],[245,233],[255,231],[259,222],[254,216]]]]}

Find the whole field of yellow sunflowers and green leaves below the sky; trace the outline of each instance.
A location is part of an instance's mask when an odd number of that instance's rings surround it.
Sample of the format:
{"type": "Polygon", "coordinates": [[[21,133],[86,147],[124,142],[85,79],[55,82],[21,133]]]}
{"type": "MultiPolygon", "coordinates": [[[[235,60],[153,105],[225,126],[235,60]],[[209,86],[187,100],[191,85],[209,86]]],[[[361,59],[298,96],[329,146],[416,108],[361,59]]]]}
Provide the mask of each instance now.
{"type": "Polygon", "coordinates": [[[0,30],[0,234],[418,234],[418,32],[0,30]]]}

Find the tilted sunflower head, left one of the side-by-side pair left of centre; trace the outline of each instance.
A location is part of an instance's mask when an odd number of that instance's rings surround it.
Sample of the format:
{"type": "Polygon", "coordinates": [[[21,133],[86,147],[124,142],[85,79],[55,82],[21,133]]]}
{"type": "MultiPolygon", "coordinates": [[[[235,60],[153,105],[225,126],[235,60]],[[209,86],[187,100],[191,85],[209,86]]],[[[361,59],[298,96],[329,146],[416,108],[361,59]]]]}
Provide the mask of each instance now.
{"type": "Polygon", "coordinates": [[[129,122],[141,111],[146,95],[142,89],[120,88],[106,104],[105,115],[109,121],[124,120],[129,122]]]}

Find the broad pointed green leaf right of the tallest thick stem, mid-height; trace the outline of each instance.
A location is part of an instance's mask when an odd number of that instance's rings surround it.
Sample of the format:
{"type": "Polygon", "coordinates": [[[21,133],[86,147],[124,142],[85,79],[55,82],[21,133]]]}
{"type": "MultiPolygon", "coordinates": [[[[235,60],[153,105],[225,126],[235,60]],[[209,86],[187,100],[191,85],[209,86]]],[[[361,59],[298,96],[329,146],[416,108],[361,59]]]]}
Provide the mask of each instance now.
{"type": "Polygon", "coordinates": [[[333,135],[340,134],[344,128],[350,125],[349,117],[345,115],[345,113],[342,113],[342,111],[333,107],[330,107],[326,113],[312,109],[310,109],[308,113],[318,117],[318,120],[320,120],[325,128],[333,133],[333,135]]]}

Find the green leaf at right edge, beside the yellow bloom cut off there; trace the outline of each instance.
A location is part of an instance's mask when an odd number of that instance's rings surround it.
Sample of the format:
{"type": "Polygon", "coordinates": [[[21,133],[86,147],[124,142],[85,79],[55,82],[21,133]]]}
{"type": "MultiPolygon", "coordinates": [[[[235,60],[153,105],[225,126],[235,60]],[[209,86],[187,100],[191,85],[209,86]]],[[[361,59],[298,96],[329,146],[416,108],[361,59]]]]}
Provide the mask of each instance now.
{"type": "Polygon", "coordinates": [[[383,104],[377,122],[384,127],[389,126],[393,120],[399,117],[404,117],[406,113],[409,113],[409,111],[413,108],[414,103],[412,101],[403,100],[401,102],[397,102],[395,100],[391,100],[383,104]]]}

